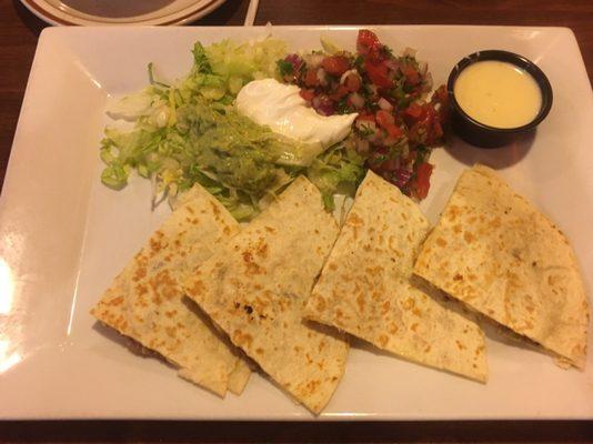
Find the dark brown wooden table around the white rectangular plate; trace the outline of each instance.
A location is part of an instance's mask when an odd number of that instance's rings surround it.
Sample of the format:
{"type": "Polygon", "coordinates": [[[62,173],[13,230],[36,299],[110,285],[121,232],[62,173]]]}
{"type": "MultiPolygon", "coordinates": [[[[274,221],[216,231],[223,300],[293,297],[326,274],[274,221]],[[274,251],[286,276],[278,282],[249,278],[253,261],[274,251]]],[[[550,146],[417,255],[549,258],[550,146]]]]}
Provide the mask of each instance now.
{"type": "MultiPolygon", "coordinates": [[[[242,24],[248,0],[228,0],[199,26],[242,24]]],[[[255,24],[522,24],[570,27],[593,79],[592,0],[261,0],[255,24]]],[[[40,31],[18,0],[0,0],[0,183],[40,31]]],[[[593,122],[592,122],[593,123],[593,122]]],[[[1,394],[0,394],[1,402],[1,394]]],[[[593,400],[592,400],[593,402],[593,400]]],[[[593,441],[593,422],[211,423],[0,422],[0,441],[593,441]]]]}

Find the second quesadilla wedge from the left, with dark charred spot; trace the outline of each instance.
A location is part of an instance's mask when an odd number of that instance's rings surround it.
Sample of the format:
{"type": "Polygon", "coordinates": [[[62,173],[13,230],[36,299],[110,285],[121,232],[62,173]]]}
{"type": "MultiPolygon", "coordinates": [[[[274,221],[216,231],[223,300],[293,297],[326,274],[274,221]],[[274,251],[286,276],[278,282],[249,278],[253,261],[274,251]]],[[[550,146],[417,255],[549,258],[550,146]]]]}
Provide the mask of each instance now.
{"type": "Polygon", "coordinates": [[[319,190],[300,176],[185,282],[188,296],[313,413],[330,400],[348,355],[343,335],[303,321],[336,236],[319,190]]]}

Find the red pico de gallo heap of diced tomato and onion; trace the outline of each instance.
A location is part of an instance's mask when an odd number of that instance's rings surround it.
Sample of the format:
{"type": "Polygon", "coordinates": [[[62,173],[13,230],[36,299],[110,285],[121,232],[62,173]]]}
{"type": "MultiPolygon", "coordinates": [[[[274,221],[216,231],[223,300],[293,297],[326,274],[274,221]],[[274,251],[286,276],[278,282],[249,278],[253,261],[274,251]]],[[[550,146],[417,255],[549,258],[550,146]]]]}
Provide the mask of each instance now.
{"type": "Polygon", "coordinates": [[[444,85],[428,98],[432,78],[413,50],[394,56],[363,29],[355,53],[291,53],[278,68],[318,113],[359,113],[349,143],[365,167],[414,199],[426,196],[429,159],[432,148],[443,144],[449,104],[444,85]]]}

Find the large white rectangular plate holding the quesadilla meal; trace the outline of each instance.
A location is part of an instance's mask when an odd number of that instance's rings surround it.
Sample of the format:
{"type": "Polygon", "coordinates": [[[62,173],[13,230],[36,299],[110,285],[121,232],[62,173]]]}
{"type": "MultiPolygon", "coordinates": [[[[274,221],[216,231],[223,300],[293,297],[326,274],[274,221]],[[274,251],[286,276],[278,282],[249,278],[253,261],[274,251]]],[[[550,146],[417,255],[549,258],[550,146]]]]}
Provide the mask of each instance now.
{"type": "MultiPolygon", "coordinates": [[[[574,36],[559,28],[372,27],[396,51],[418,49],[435,84],[465,54],[519,52],[550,78],[554,105],[535,137],[501,150],[454,142],[436,150],[423,210],[436,220],[465,164],[480,161],[559,223],[593,282],[593,100],[574,36]]],[[[120,192],[100,182],[108,98],[144,87],[147,64],[173,79],[195,40],[260,37],[263,28],[60,28],[43,31],[0,202],[0,417],[309,420],[264,379],[221,401],[155,359],[130,353],[89,309],[169,212],[150,211],[148,181],[120,192]]],[[[353,49],[354,27],[278,27],[291,50],[320,34],[353,49]]],[[[490,335],[490,334],[489,334],[490,335]]],[[[324,418],[593,418],[593,357],[564,371],[490,335],[482,385],[361,347],[324,418]]],[[[591,334],[590,334],[590,344],[591,334]]]]}

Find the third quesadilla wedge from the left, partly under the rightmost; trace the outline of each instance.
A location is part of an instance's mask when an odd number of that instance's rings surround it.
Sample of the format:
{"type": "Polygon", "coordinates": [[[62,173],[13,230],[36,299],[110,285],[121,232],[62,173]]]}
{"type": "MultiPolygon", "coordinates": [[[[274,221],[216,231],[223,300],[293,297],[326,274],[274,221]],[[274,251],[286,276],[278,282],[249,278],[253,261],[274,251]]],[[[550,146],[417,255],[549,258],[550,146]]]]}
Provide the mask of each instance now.
{"type": "Polygon", "coordinates": [[[305,314],[406,360],[485,382],[480,327],[412,280],[428,231],[418,205],[369,171],[305,314]]]}

